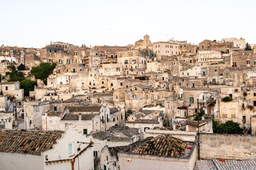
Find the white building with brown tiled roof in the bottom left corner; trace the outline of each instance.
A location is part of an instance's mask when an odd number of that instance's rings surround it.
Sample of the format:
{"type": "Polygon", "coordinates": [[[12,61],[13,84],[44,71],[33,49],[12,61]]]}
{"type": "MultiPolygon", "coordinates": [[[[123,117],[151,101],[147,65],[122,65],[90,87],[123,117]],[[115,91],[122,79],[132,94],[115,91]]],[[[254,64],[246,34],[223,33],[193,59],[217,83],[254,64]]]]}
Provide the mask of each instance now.
{"type": "Polygon", "coordinates": [[[92,142],[73,129],[0,131],[1,169],[94,169],[92,142]],[[15,160],[15,161],[14,161],[15,160]]]}

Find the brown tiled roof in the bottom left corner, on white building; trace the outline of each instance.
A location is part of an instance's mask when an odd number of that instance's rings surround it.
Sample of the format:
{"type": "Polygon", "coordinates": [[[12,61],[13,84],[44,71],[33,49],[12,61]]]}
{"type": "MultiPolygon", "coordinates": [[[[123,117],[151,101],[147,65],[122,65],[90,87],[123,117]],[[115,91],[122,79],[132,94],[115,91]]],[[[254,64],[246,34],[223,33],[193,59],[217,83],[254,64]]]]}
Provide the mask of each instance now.
{"type": "Polygon", "coordinates": [[[0,131],[0,152],[36,154],[53,148],[63,131],[0,131]]]}

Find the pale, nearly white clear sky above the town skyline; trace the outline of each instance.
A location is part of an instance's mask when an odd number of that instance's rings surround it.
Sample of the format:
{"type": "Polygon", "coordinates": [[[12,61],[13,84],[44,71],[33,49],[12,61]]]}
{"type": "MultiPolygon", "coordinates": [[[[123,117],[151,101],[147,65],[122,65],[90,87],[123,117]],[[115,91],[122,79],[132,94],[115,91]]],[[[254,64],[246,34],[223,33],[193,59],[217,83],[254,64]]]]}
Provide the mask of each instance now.
{"type": "Polygon", "coordinates": [[[151,42],[242,37],[256,43],[255,6],[255,0],[0,0],[0,43],[127,45],[146,34],[151,42]]]}

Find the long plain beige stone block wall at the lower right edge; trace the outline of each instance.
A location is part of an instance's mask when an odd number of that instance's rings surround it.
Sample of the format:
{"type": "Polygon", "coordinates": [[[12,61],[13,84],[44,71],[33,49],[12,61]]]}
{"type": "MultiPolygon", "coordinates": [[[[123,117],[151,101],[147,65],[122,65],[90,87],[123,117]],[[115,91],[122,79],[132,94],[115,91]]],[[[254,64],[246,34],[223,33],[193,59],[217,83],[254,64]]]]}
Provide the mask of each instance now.
{"type": "Polygon", "coordinates": [[[255,159],[255,135],[200,134],[201,159],[255,159]]]}

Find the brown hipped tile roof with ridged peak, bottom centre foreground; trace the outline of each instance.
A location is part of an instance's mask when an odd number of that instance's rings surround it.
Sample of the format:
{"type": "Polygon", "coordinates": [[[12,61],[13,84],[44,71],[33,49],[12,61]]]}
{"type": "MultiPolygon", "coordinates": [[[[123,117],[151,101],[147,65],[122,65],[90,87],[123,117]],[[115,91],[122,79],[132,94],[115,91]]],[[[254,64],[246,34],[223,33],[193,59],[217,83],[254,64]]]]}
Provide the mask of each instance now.
{"type": "Polygon", "coordinates": [[[146,154],[157,157],[182,157],[187,144],[171,135],[159,135],[132,149],[131,154],[146,154]]]}

